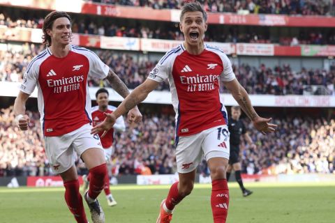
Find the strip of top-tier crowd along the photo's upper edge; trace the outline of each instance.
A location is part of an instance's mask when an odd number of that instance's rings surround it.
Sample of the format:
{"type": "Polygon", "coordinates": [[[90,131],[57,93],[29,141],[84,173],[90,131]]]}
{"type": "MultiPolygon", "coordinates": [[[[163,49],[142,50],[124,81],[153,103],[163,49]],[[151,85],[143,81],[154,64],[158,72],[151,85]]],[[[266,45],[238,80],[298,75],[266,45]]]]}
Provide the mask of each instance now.
{"type": "MultiPolygon", "coordinates": [[[[154,9],[180,9],[187,1],[177,0],[85,0],[124,6],[141,6],[154,9]]],[[[189,0],[188,0],[189,1],[189,0]]],[[[286,15],[329,15],[332,0],[200,0],[205,10],[213,13],[286,14],[286,15]]]]}

